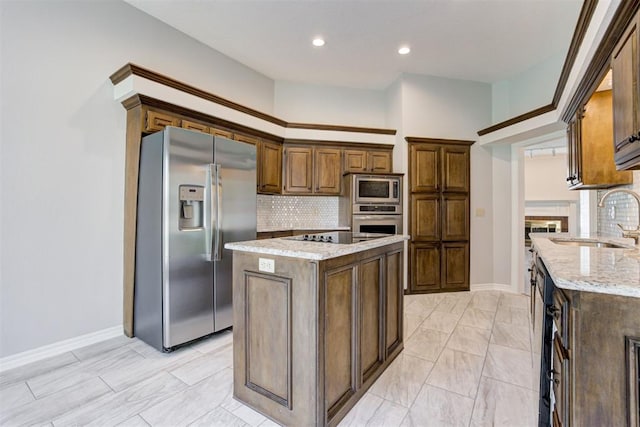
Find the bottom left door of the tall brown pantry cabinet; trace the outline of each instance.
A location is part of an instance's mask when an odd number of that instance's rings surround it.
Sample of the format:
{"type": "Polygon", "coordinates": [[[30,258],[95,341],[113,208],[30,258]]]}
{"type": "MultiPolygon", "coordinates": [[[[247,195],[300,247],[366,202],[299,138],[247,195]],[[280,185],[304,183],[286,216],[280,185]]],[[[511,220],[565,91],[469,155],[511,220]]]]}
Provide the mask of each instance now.
{"type": "Polygon", "coordinates": [[[440,289],[440,244],[411,243],[410,280],[412,292],[440,289]]]}

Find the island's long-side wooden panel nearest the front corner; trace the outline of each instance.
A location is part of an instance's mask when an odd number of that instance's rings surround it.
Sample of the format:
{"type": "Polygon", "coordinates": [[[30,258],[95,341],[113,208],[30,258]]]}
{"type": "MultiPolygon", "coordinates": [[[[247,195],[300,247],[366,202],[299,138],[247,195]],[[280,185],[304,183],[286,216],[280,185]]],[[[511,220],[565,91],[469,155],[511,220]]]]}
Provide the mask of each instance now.
{"type": "Polygon", "coordinates": [[[329,271],[325,276],[325,400],[334,414],[356,392],[355,267],[329,271]]]}

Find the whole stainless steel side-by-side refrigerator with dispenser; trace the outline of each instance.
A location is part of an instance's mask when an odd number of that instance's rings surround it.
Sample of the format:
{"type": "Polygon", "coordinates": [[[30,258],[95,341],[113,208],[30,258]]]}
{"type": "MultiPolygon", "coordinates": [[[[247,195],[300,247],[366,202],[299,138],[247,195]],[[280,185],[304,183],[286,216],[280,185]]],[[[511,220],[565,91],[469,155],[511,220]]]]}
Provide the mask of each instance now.
{"type": "Polygon", "coordinates": [[[256,147],[167,127],[142,139],[134,334],[161,351],[232,326],[232,252],[256,238],[256,147]]]}

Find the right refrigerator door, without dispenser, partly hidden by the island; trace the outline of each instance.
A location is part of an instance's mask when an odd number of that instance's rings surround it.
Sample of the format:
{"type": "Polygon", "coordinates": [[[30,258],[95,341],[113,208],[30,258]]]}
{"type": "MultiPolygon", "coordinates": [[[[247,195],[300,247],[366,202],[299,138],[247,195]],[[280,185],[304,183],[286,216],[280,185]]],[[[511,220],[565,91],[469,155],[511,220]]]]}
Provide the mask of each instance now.
{"type": "MultiPolygon", "coordinates": [[[[225,138],[215,138],[217,165],[217,236],[220,255],[215,261],[215,330],[233,324],[232,251],[227,242],[256,238],[256,147],[225,138]]],[[[214,237],[215,238],[215,237],[214,237]]],[[[215,243],[214,243],[215,245],[215,243]]]]}

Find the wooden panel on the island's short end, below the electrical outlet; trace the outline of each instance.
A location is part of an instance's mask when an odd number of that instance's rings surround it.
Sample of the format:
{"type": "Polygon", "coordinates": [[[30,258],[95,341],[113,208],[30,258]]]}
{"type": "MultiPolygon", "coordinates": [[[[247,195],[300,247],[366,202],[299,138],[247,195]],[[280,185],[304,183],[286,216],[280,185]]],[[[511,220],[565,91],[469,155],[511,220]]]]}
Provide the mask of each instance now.
{"type": "Polygon", "coordinates": [[[245,283],[247,386],[291,407],[291,280],[248,274],[245,283]]]}

